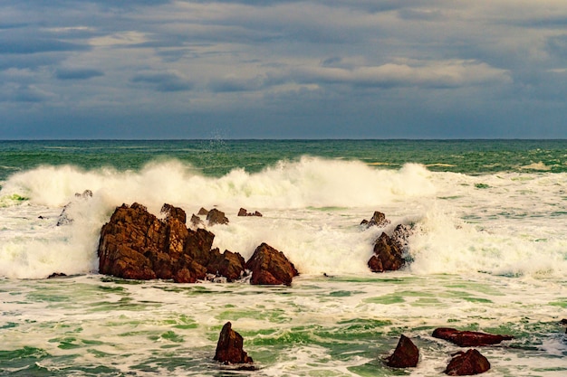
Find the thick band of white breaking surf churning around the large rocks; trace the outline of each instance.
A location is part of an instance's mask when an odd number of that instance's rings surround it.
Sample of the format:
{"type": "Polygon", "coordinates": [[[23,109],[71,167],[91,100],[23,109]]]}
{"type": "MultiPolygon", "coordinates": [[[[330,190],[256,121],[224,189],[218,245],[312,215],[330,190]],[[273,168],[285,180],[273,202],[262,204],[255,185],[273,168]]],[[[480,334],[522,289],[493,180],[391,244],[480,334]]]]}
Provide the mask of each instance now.
{"type": "Polygon", "coordinates": [[[303,274],[369,273],[372,242],[383,230],[358,224],[378,210],[393,221],[386,231],[398,222],[417,224],[409,239],[412,273],[562,275],[565,184],[566,174],[467,176],[432,173],[423,165],[388,170],[312,157],[255,174],[235,169],[220,178],[178,161],[139,172],[42,166],[10,176],[0,191],[0,275],[43,278],[96,270],[101,225],[117,205],[134,202],[156,214],[163,203],[188,214],[216,206],[230,219],[211,229],[216,247],[248,258],[267,242],[303,274]],[[91,199],[75,199],[86,189],[91,199]],[[66,212],[74,221],[55,227],[70,202],[66,212]],[[237,218],[240,207],[264,217],[237,218]],[[37,219],[45,213],[47,219],[37,219]]]}

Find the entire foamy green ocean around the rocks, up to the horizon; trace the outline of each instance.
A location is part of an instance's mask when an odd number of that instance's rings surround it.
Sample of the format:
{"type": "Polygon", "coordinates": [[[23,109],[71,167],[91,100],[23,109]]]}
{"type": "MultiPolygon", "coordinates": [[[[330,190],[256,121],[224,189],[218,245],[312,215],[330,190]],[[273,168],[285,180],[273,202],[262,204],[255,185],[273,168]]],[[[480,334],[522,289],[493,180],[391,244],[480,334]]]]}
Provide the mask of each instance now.
{"type": "Polygon", "coordinates": [[[479,348],[486,375],[565,376],[566,230],[567,140],[0,141],[0,376],[438,376],[466,351],[441,326],[514,335],[479,348]],[[135,202],[217,208],[214,247],[266,242],[301,275],[102,276],[101,226],[135,202]],[[391,223],[360,226],[374,211],[391,223]],[[408,264],[370,272],[399,223],[408,264]],[[228,321],[256,371],[213,361],[228,321]],[[400,335],[416,368],[383,361],[400,335]]]}

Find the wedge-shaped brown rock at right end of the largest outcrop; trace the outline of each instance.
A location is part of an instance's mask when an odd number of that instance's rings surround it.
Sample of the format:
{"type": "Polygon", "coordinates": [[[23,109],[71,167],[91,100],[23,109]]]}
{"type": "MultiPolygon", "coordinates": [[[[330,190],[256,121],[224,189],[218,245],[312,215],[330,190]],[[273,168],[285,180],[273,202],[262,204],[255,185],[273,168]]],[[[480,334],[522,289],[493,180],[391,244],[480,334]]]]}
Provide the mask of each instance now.
{"type": "Polygon", "coordinates": [[[266,243],[256,248],[254,254],[246,262],[246,269],[252,271],[250,282],[256,285],[291,286],[293,277],[299,275],[293,263],[266,243]]]}

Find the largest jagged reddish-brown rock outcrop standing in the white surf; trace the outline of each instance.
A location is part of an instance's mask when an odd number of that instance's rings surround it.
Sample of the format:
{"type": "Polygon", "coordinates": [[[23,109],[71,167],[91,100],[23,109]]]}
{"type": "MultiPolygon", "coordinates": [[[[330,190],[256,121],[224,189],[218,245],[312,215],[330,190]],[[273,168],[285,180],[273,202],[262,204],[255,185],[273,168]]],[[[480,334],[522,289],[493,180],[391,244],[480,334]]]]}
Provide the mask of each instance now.
{"type": "Polygon", "coordinates": [[[215,235],[204,229],[187,229],[182,209],[165,204],[162,212],[163,220],[139,203],[118,207],[101,229],[99,272],[178,283],[194,283],[207,275],[234,280],[244,274],[242,256],[211,249],[215,235]]]}

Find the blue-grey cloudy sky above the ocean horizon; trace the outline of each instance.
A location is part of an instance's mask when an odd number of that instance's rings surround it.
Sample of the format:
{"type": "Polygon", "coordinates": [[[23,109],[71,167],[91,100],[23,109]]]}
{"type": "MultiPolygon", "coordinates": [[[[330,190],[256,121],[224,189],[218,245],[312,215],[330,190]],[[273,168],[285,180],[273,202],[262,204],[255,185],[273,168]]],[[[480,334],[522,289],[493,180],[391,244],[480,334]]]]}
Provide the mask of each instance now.
{"type": "Polygon", "coordinates": [[[0,0],[0,139],[567,138],[565,0],[0,0]]]}

